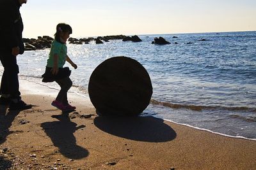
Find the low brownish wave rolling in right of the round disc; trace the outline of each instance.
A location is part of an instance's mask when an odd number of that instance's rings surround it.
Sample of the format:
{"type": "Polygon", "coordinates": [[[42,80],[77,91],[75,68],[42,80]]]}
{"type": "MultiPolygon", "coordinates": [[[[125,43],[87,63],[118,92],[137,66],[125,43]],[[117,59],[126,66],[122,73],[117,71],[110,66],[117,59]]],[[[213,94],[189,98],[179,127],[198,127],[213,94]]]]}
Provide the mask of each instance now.
{"type": "MultiPolygon", "coordinates": [[[[225,106],[196,106],[196,105],[186,105],[186,104],[173,104],[168,102],[157,101],[155,99],[150,100],[151,104],[161,105],[168,108],[175,109],[189,109],[193,111],[202,111],[202,110],[229,110],[229,111],[252,111],[256,113],[256,108],[248,107],[225,107],[225,106]]],[[[256,119],[256,118],[255,118],[256,119]]]]}

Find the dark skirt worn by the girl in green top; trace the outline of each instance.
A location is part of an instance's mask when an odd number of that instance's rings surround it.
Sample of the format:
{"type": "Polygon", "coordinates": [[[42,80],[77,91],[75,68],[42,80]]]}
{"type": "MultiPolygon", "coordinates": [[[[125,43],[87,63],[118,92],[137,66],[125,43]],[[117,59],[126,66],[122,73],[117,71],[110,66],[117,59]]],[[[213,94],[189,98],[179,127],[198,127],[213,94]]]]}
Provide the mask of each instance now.
{"type": "Polygon", "coordinates": [[[52,82],[56,80],[61,80],[63,78],[69,77],[71,70],[68,67],[59,68],[56,75],[52,74],[52,67],[45,67],[45,73],[42,74],[43,82],[52,82]]]}

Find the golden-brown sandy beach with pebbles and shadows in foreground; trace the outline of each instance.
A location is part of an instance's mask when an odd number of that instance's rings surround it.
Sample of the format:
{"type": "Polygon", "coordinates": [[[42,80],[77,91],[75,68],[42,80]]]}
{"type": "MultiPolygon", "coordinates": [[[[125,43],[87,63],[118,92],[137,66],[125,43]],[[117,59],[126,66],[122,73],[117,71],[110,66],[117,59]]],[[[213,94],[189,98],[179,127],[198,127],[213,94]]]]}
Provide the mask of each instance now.
{"type": "Polygon", "coordinates": [[[0,169],[255,169],[256,141],[155,117],[98,117],[88,97],[51,106],[58,90],[20,80],[24,111],[1,108],[0,169]]]}

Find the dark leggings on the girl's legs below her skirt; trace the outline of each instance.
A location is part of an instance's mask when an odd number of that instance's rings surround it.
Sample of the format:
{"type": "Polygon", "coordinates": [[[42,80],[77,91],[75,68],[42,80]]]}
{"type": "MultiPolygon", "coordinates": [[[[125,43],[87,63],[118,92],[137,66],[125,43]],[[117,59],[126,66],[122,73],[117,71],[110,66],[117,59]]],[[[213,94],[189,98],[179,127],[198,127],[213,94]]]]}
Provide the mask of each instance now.
{"type": "Polygon", "coordinates": [[[66,77],[61,80],[56,80],[56,82],[61,87],[60,92],[56,97],[56,101],[60,101],[64,105],[67,105],[68,104],[67,92],[70,89],[70,87],[72,87],[72,81],[70,80],[69,77],[66,77]]]}

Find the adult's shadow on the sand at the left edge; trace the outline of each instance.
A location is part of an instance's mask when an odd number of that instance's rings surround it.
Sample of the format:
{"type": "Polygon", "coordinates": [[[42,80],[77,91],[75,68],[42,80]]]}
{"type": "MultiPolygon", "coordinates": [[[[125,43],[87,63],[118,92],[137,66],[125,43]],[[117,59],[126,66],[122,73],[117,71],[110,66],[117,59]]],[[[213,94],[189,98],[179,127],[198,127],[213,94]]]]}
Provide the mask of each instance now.
{"type": "Polygon", "coordinates": [[[12,122],[19,115],[20,110],[8,110],[6,106],[0,105],[0,145],[6,141],[6,138],[9,134],[12,134],[13,131],[10,131],[12,122]]]}

